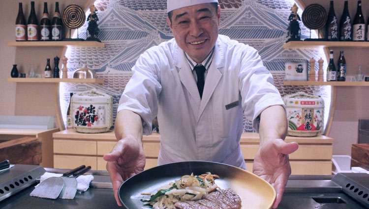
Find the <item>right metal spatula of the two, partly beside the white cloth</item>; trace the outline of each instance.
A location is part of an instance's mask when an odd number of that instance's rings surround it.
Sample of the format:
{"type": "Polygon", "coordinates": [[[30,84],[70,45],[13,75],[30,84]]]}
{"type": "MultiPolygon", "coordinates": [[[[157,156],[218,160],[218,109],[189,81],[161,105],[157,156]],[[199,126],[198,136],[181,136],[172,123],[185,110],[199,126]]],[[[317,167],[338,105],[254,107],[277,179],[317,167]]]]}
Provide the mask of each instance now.
{"type": "MultiPolygon", "coordinates": [[[[64,180],[64,187],[62,189],[62,192],[60,193],[60,198],[62,199],[74,199],[74,196],[77,192],[77,180],[76,178],[80,175],[86,173],[91,169],[91,166],[87,166],[86,168],[83,168],[82,170],[79,170],[75,173],[73,173],[73,177],[62,177],[64,180]]],[[[69,174],[70,175],[70,174],[69,174]]],[[[69,176],[68,175],[68,176],[69,176]]]]}

